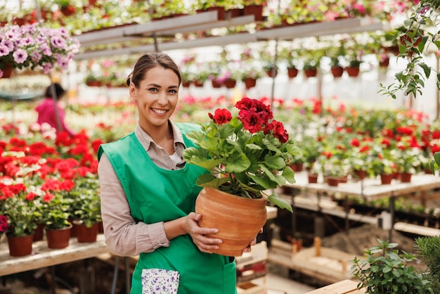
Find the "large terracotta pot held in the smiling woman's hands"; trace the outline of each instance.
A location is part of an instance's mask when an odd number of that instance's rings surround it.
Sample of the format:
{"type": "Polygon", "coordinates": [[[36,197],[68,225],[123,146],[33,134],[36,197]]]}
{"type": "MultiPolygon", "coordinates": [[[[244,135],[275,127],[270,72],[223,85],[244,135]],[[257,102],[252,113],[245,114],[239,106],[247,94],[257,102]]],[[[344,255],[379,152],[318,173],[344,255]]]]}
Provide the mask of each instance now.
{"type": "Polygon", "coordinates": [[[217,234],[223,243],[214,253],[241,256],[266,224],[267,198],[251,199],[235,196],[215,188],[205,187],[195,201],[195,212],[202,215],[200,226],[219,229],[217,234]]]}

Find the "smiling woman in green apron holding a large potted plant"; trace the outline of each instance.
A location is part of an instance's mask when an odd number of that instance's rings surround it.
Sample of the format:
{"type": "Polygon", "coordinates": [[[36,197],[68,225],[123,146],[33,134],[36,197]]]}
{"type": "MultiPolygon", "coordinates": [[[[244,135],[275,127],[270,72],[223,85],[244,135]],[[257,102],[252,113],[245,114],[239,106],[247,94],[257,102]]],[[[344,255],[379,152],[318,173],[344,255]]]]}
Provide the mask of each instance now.
{"type": "Polygon", "coordinates": [[[170,120],[179,99],[179,68],[166,54],[147,53],[127,84],[138,124],[124,138],[101,145],[98,175],[110,252],[139,254],[131,293],[236,293],[233,258],[211,253],[221,240],[205,235],[218,230],[198,226],[202,215],[193,212],[201,189],[195,181],[207,171],[185,163],[182,151],[194,144],[170,120]]]}

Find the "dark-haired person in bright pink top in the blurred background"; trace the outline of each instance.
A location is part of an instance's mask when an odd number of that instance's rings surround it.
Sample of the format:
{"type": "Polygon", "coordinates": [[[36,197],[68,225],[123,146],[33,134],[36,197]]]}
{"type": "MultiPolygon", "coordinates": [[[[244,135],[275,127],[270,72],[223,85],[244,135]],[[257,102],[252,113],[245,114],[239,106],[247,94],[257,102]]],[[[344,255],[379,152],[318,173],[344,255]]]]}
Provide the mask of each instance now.
{"type": "Polygon", "coordinates": [[[59,134],[60,132],[67,132],[70,136],[75,136],[75,132],[72,131],[67,125],[65,124],[65,112],[64,108],[60,106],[60,99],[65,96],[66,91],[61,87],[58,83],[53,83],[53,86],[55,87],[55,93],[56,93],[56,102],[53,99],[52,95],[52,89],[51,85],[49,85],[46,88],[46,91],[44,92],[44,99],[39,103],[39,105],[35,108],[35,110],[38,113],[37,123],[43,124],[44,122],[51,125],[51,127],[56,129],[56,134],[59,134]],[[56,115],[56,108],[58,108],[58,116],[60,119],[60,128],[58,127],[58,119],[56,115]]]}

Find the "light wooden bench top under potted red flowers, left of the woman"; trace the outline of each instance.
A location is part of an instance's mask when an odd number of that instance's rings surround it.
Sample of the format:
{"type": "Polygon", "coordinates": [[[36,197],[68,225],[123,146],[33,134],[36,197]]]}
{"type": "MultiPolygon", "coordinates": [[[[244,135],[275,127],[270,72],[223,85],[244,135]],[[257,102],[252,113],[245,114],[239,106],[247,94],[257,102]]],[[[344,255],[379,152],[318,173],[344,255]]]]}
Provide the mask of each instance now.
{"type": "Polygon", "coordinates": [[[9,255],[8,243],[3,242],[0,243],[0,276],[84,260],[104,253],[108,253],[108,248],[103,234],[98,234],[93,243],[79,243],[77,238],[70,238],[69,246],[63,249],[48,248],[46,240],[34,242],[32,254],[23,257],[9,255]]]}

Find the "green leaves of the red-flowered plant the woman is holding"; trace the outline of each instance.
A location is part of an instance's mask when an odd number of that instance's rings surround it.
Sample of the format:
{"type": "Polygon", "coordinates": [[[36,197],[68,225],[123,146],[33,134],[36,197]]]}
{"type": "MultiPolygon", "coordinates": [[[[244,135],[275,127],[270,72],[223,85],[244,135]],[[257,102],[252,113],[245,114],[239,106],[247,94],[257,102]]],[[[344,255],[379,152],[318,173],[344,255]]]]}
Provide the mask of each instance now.
{"type": "MultiPolygon", "coordinates": [[[[210,172],[199,177],[198,186],[259,198],[264,190],[295,182],[288,165],[299,150],[292,139],[281,142],[273,132],[262,129],[250,132],[238,117],[227,122],[213,119],[200,127],[200,131],[186,134],[198,148],[183,151],[186,162],[210,172]]],[[[268,196],[268,200],[292,212],[292,207],[276,194],[268,196]]]]}

